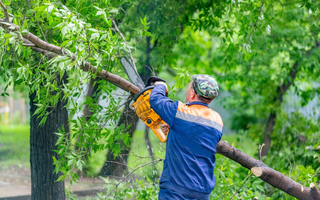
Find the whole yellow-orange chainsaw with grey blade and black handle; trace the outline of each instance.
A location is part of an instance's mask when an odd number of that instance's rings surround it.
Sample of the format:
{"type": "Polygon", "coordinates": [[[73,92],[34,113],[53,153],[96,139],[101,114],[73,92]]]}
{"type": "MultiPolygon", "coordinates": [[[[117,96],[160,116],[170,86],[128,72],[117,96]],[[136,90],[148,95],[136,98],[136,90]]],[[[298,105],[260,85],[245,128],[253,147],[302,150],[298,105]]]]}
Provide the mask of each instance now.
{"type": "MultiPolygon", "coordinates": [[[[160,141],[166,142],[167,138],[162,132],[160,126],[161,124],[165,124],[165,122],[160,118],[159,115],[156,114],[156,112],[151,108],[149,103],[151,91],[155,87],[154,83],[156,81],[165,81],[157,76],[151,76],[148,79],[147,83],[144,84],[136,68],[133,67],[133,65],[127,57],[121,57],[120,63],[124,68],[124,71],[129,77],[130,81],[136,86],[138,86],[140,89],[138,94],[133,98],[133,100],[129,104],[129,107],[135,111],[135,113],[141,119],[141,121],[143,121],[149,128],[151,128],[151,130],[156,134],[160,141]]],[[[168,97],[168,92],[165,93],[165,96],[168,97]]]]}

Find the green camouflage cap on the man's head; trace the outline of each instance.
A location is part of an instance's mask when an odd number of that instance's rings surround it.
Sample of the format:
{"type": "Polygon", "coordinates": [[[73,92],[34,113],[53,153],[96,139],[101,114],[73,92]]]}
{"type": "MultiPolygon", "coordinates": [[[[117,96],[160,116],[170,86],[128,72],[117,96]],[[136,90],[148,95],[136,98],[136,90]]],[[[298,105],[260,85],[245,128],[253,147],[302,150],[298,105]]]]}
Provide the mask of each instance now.
{"type": "Polygon", "coordinates": [[[206,100],[213,100],[218,96],[219,86],[213,77],[206,74],[196,74],[192,76],[193,89],[199,96],[206,100]]]}

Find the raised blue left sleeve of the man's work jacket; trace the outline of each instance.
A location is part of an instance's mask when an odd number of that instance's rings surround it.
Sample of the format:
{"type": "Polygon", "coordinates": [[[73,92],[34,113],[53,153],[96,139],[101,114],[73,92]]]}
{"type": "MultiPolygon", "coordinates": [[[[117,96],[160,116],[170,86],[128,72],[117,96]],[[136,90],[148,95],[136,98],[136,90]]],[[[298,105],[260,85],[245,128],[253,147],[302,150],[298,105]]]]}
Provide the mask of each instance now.
{"type": "Polygon", "coordinates": [[[177,113],[179,101],[173,102],[168,97],[165,97],[165,85],[158,84],[154,87],[150,94],[149,103],[156,114],[171,127],[177,113]]]}

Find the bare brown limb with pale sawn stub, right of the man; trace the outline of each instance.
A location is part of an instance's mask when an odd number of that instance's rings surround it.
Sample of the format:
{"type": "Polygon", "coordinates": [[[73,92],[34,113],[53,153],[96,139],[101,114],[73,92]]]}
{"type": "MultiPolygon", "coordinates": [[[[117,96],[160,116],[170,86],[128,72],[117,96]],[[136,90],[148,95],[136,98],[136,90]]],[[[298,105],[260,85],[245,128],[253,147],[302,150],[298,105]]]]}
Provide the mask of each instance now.
{"type": "MultiPolygon", "coordinates": [[[[306,200],[320,199],[320,192],[316,189],[316,187],[307,188],[302,186],[300,183],[297,183],[296,181],[286,177],[281,172],[268,167],[262,161],[256,160],[239,149],[232,147],[225,141],[221,140],[218,143],[217,153],[236,161],[249,170],[251,170],[253,167],[259,168],[262,171],[261,175],[259,176],[261,180],[291,196],[306,200]],[[301,188],[303,188],[303,190],[301,188]]],[[[256,168],[255,171],[257,171],[256,168]]]]}

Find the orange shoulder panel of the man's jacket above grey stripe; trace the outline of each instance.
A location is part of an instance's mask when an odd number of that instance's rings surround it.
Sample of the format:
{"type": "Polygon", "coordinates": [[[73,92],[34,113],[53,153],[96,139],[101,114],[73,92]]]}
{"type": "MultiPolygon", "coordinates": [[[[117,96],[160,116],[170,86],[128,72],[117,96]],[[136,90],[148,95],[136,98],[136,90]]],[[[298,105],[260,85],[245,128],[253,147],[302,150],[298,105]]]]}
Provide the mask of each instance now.
{"type": "Polygon", "coordinates": [[[208,108],[208,107],[205,107],[202,105],[197,105],[197,104],[187,106],[186,104],[179,101],[178,111],[181,111],[181,112],[186,113],[188,115],[199,116],[204,119],[214,121],[214,122],[220,124],[221,126],[223,126],[222,119],[221,119],[220,115],[216,111],[212,110],[211,108],[208,108]]]}

